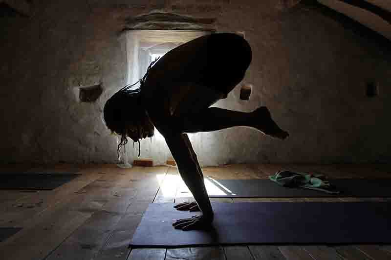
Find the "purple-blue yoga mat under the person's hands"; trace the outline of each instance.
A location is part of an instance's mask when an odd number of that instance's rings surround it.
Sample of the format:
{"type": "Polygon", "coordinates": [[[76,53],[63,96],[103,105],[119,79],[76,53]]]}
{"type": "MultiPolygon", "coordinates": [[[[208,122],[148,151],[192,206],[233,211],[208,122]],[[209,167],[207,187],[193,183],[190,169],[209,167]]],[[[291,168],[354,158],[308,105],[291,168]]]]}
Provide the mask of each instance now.
{"type": "Polygon", "coordinates": [[[256,243],[390,243],[390,202],[213,203],[214,231],[181,231],[175,219],[194,212],[174,203],[152,203],[137,227],[132,247],[256,243]]]}

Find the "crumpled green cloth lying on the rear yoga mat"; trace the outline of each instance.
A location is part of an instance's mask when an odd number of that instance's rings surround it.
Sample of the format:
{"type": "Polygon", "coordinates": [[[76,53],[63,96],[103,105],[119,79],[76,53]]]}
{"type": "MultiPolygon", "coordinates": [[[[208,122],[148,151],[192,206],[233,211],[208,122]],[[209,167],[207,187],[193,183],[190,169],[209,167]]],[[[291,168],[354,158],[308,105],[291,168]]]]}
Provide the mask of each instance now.
{"type": "Polygon", "coordinates": [[[323,174],[296,173],[291,171],[278,171],[269,176],[269,179],[277,182],[282,187],[304,188],[323,191],[329,194],[339,194],[335,187],[329,183],[323,174]]]}

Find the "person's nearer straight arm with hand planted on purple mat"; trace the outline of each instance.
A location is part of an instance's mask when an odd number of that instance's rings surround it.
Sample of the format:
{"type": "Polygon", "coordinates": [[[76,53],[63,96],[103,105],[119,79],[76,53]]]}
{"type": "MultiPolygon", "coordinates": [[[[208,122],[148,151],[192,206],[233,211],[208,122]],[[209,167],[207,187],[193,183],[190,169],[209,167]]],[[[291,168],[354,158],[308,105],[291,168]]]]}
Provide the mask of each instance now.
{"type": "Polygon", "coordinates": [[[212,205],[206,192],[198,160],[188,136],[181,133],[163,134],[163,136],[178,165],[178,171],[182,180],[192,192],[195,201],[202,212],[201,216],[175,221],[173,224],[174,227],[182,230],[190,230],[203,229],[210,226],[213,221],[212,205]]]}

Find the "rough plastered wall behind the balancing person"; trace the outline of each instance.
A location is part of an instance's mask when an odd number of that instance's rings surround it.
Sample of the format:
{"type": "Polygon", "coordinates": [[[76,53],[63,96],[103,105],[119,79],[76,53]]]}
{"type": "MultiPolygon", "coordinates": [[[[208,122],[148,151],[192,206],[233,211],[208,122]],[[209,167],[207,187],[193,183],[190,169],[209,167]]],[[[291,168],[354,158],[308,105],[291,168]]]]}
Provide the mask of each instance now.
{"type": "MultiPolygon", "coordinates": [[[[30,17],[0,18],[0,161],[118,162],[102,109],[129,76],[121,31],[127,19],[151,11],[213,18],[217,32],[245,32],[253,62],[244,81],[253,93],[241,101],[237,87],[217,106],[266,105],[291,134],[286,141],[248,128],[194,134],[201,164],[389,161],[390,56],[336,21],[279,3],[42,0],[31,5],[30,17]],[[370,82],[379,96],[366,97],[370,82]],[[98,100],[79,101],[80,87],[99,84],[98,100]]],[[[169,156],[163,140],[147,142],[142,157],[169,156]],[[152,151],[154,142],[162,149],[152,151]]],[[[129,160],[137,154],[131,146],[129,160]]]]}

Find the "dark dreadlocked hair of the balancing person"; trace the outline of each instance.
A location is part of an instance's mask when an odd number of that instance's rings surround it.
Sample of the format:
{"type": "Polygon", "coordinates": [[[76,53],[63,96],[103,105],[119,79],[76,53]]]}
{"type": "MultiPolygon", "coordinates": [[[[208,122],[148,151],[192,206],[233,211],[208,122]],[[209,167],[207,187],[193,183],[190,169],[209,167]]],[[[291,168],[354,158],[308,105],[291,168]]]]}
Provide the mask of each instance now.
{"type": "MultiPolygon", "coordinates": [[[[128,143],[127,139],[127,127],[130,124],[139,125],[144,114],[134,113],[135,116],[129,117],[129,106],[132,105],[134,110],[140,109],[141,104],[141,88],[143,87],[145,80],[148,78],[148,73],[160,57],[157,57],[153,60],[147,68],[147,72],[144,77],[137,80],[133,84],[128,84],[116,92],[113,96],[106,101],[106,104],[103,108],[103,118],[105,120],[106,126],[112,131],[121,136],[121,141],[117,147],[117,156],[119,157],[120,148],[124,146],[124,152],[126,153],[126,144],[128,143]],[[138,88],[133,88],[137,83],[140,83],[138,88]],[[140,115],[141,114],[141,115],[140,115]]],[[[138,134],[140,135],[140,127],[137,127],[138,134]]],[[[133,141],[134,147],[134,141],[133,141]]],[[[138,140],[138,156],[140,157],[140,140],[138,140]]]]}

